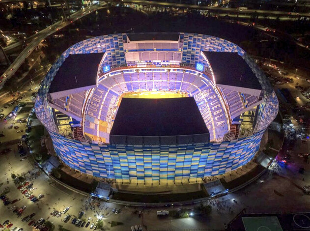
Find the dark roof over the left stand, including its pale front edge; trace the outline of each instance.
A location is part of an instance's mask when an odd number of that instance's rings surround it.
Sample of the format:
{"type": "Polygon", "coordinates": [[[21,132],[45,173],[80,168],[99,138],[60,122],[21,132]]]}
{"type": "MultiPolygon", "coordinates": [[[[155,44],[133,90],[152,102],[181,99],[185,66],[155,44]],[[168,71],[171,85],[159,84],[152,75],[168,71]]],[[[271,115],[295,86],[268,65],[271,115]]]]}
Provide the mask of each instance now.
{"type": "Polygon", "coordinates": [[[98,66],[104,53],[69,55],[59,67],[49,93],[59,98],[92,88],[97,83],[98,66]],[[77,89],[80,88],[80,89],[77,89]],[[73,89],[76,89],[72,92],[73,89]],[[70,90],[70,91],[69,91],[70,90]]]}

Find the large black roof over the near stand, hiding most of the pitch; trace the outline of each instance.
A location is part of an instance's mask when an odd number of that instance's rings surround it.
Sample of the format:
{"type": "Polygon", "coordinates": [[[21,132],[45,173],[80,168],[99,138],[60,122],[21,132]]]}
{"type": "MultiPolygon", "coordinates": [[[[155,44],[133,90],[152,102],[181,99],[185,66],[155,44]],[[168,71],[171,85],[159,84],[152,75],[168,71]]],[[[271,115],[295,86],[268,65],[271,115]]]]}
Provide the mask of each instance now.
{"type": "Polygon", "coordinates": [[[194,97],[122,98],[112,136],[187,136],[209,134],[194,97]]]}

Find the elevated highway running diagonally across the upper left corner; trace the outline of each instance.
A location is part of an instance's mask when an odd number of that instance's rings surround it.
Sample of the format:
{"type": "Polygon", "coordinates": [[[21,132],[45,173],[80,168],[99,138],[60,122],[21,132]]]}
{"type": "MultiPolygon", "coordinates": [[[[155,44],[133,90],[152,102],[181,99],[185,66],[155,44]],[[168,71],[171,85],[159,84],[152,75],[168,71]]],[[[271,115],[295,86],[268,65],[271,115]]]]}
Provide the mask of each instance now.
{"type": "MultiPolygon", "coordinates": [[[[13,61],[13,63],[9,66],[9,68],[2,74],[4,77],[2,80],[3,82],[0,83],[0,89],[3,87],[6,81],[8,81],[18,70],[18,68],[24,63],[25,59],[28,58],[28,56],[31,54],[31,52],[41,43],[44,41],[46,37],[49,35],[55,33],[57,30],[62,29],[69,24],[81,19],[82,17],[86,16],[87,14],[95,11],[100,6],[104,5],[106,3],[103,3],[101,5],[98,4],[92,4],[89,5],[76,13],[70,15],[71,21],[58,21],[55,24],[47,27],[46,29],[43,29],[39,31],[38,33],[28,37],[26,40],[31,42],[28,43],[28,46],[19,54],[19,56],[13,61]]],[[[17,46],[21,46],[23,42],[17,42],[14,43],[8,47],[6,47],[4,50],[7,51],[8,49],[16,48],[17,46]]]]}

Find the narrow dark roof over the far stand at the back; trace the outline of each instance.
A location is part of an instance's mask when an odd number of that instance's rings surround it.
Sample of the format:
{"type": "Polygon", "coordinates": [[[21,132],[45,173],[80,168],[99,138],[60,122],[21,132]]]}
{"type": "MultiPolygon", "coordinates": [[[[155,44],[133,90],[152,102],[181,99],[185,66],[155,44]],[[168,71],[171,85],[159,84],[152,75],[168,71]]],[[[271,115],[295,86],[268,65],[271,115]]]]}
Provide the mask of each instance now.
{"type": "Polygon", "coordinates": [[[179,33],[128,33],[127,36],[130,41],[178,41],[180,35],[179,33]]]}

